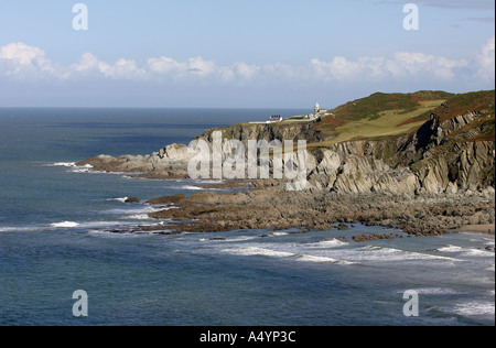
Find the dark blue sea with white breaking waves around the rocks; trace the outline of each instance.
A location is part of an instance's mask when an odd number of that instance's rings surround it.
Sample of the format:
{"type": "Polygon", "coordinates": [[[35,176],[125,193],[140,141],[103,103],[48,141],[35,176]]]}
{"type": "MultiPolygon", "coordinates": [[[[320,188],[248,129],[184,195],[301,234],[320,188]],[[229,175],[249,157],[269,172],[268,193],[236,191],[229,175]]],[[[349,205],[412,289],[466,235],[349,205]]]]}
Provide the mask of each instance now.
{"type": "Polygon", "coordinates": [[[308,110],[0,109],[0,325],[494,325],[494,236],[244,230],[131,233],[153,207],[126,197],[195,181],[88,173],[101,153],[148,154],[207,128],[308,110]],[[112,232],[119,230],[119,233],[112,232]],[[345,236],[348,241],[339,241],[345,236]],[[75,317],[73,293],[88,294],[75,317]],[[406,291],[419,316],[407,317],[406,291]]]}

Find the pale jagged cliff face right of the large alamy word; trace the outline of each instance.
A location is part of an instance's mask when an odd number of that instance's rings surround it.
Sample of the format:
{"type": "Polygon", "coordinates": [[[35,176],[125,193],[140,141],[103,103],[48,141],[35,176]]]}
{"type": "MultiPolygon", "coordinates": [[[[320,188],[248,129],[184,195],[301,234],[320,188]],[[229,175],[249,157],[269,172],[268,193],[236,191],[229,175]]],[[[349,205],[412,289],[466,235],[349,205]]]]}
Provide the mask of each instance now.
{"type": "Polygon", "coordinates": [[[342,193],[455,194],[488,188],[494,193],[494,141],[470,141],[479,118],[467,113],[444,122],[433,115],[414,134],[351,141],[320,150],[309,181],[314,189],[342,193]]]}

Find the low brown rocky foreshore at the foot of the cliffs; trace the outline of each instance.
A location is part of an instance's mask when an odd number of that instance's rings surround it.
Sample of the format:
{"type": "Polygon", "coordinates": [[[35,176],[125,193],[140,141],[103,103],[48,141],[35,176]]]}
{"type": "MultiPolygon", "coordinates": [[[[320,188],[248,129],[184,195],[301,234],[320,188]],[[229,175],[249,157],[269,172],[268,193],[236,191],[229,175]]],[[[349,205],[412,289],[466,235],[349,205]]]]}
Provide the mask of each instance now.
{"type": "MultiPolygon", "coordinates": [[[[235,194],[201,192],[190,197],[160,197],[148,204],[163,208],[150,217],[169,219],[170,222],[142,230],[165,233],[242,229],[345,230],[346,227],[341,227],[347,222],[393,227],[409,236],[429,237],[466,225],[494,225],[495,221],[495,202],[490,191],[472,196],[406,198],[392,194],[287,192],[276,181],[257,181],[250,191],[235,194]]],[[[357,236],[354,240],[396,237],[400,236],[357,236]]]]}

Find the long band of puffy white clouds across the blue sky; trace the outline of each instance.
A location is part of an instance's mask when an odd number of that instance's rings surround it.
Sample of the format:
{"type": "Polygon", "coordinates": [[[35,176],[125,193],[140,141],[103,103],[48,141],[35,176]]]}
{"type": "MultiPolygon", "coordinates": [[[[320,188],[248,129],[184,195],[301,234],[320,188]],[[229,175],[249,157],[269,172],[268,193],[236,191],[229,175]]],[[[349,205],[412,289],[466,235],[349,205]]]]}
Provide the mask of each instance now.
{"type": "Polygon", "coordinates": [[[471,63],[418,52],[397,52],[387,57],[349,59],[335,56],[327,62],[314,58],[303,66],[282,63],[256,65],[244,62],[220,66],[200,56],[184,62],[166,56],[152,57],[143,66],[139,66],[134,61],[125,58],[109,64],[100,61],[93,53],[85,53],[76,63],[62,66],[48,59],[45,52],[39,47],[23,43],[12,43],[0,47],[0,77],[7,76],[14,79],[77,80],[84,77],[185,85],[216,83],[257,86],[267,81],[288,84],[313,81],[360,84],[362,81],[384,83],[391,79],[454,81],[463,77],[487,84],[494,81],[494,36],[471,63]],[[466,76],[467,74],[470,76],[466,76]]]}

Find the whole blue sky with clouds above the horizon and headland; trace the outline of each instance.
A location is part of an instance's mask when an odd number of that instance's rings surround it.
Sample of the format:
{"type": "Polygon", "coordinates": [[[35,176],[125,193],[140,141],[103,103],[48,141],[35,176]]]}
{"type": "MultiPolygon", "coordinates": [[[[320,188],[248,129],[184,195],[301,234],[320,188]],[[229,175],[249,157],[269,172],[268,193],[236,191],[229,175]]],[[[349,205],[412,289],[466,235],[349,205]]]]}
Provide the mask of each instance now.
{"type": "Polygon", "coordinates": [[[0,2],[0,107],[334,108],[494,66],[494,0],[0,2]]]}

